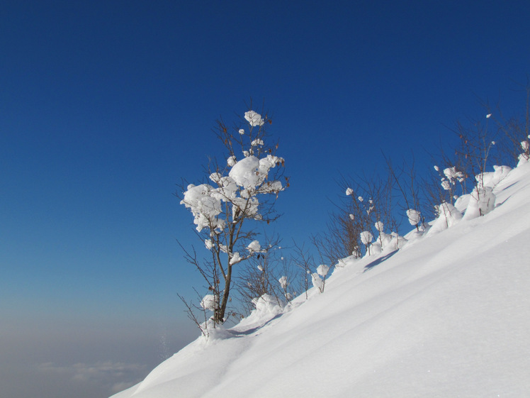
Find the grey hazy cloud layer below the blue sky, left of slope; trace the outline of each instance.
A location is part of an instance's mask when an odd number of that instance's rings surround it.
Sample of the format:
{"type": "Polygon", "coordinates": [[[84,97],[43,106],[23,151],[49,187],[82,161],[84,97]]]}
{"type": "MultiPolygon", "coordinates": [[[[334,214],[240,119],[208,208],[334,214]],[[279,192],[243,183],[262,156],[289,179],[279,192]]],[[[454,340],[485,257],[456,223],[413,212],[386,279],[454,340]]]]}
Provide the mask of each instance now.
{"type": "Polygon", "coordinates": [[[187,326],[12,317],[0,325],[1,397],[108,398],[192,340],[187,326]]]}

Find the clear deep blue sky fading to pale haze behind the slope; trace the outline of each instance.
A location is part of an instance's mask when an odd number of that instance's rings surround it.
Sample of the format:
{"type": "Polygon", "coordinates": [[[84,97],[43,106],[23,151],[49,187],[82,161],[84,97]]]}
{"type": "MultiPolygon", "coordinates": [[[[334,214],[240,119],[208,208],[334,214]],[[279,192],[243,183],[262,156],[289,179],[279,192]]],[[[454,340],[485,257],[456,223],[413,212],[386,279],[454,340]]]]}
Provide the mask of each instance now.
{"type": "Polygon", "coordinates": [[[2,2],[9,396],[105,397],[111,381],[65,368],[141,374],[196,335],[176,297],[201,286],[176,244],[193,242],[192,219],[173,193],[222,155],[217,118],[251,97],[271,111],[291,176],[276,231],[306,241],[340,175],[369,174],[381,150],[427,160],[444,125],[483,114],[477,99],[523,108],[529,13],[520,1],[2,2]]]}

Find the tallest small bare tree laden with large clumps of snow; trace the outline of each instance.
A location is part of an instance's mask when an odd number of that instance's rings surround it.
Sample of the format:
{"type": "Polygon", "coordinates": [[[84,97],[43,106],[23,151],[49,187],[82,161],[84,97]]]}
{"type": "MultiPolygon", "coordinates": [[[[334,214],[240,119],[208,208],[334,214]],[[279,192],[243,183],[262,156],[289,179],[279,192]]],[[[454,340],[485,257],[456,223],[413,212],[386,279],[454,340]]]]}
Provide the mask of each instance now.
{"type": "Polygon", "coordinates": [[[249,110],[244,121],[246,126],[234,129],[218,121],[217,137],[227,150],[226,160],[210,163],[210,182],[188,184],[177,194],[210,251],[211,260],[199,262],[194,252],[184,248],[186,259],[198,268],[213,294],[215,304],[209,306],[215,324],[225,321],[239,262],[264,252],[256,223],[268,224],[278,217],[274,201],[288,187],[288,179],[281,180],[284,160],[276,155],[278,145],[266,144],[265,127],[271,119],[249,110]]]}

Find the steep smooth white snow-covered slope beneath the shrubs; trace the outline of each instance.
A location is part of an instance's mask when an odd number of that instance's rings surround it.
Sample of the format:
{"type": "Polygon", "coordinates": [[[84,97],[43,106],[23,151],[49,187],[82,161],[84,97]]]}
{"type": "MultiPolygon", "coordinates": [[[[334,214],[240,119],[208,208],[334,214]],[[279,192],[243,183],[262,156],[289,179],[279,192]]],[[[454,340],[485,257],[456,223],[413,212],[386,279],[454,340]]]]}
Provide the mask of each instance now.
{"type": "Polygon", "coordinates": [[[494,192],[489,214],[346,259],[323,294],[199,338],[114,398],[530,397],[530,164],[494,192]]]}

